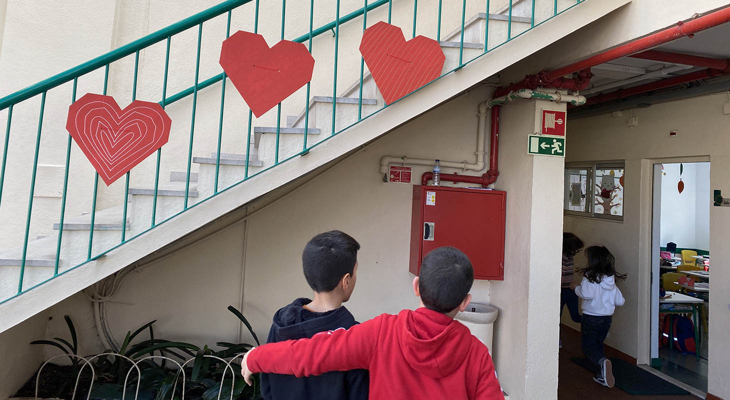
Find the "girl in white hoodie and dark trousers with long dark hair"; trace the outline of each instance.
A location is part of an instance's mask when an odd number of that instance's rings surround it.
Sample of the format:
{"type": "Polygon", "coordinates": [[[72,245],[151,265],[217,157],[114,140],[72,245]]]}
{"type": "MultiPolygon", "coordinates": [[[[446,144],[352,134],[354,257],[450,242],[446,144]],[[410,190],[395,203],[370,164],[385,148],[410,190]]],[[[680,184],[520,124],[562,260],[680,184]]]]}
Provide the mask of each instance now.
{"type": "Polygon", "coordinates": [[[583,353],[593,364],[599,366],[599,375],[593,380],[612,388],[615,380],[611,361],[606,358],[603,342],[611,327],[611,319],[616,306],[623,306],[623,296],[616,287],[616,280],[623,281],[626,274],[618,274],[615,259],[604,246],[591,246],[585,249],[588,266],[583,272],[583,281],[575,287],[575,294],[583,299],[583,321],[580,332],[583,353]]]}

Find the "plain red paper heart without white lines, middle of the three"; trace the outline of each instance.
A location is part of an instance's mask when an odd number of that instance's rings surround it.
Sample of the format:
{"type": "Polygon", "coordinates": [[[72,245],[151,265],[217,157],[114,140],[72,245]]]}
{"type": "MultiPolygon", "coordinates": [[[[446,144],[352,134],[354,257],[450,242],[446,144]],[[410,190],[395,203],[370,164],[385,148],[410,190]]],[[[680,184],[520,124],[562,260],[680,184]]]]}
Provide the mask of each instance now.
{"type": "Polygon", "coordinates": [[[223,41],[220,66],[258,118],[312,80],[315,59],[301,43],[269,48],[264,36],[237,31],[223,41]]]}

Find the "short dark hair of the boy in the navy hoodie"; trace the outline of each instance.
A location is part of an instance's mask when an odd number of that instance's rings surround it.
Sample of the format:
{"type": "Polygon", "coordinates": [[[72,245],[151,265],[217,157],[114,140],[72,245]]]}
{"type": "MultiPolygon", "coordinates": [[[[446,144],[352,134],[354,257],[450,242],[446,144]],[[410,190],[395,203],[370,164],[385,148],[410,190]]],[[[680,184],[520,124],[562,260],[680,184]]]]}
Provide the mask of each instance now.
{"type": "Polygon", "coordinates": [[[304,278],[315,292],[337,288],[345,274],[353,274],[360,244],[341,231],[328,231],[312,237],[301,252],[304,278]]]}

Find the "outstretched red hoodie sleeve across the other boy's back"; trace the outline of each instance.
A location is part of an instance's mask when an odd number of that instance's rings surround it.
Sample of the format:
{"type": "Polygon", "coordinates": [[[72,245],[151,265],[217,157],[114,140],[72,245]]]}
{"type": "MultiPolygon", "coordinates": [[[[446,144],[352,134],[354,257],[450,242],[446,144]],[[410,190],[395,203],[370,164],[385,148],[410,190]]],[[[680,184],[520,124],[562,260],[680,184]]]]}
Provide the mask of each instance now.
{"type": "Polygon", "coordinates": [[[348,330],[320,332],[312,339],[256,347],[247,355],[247,369],[253,373],[293,374],[296,377],[367,369],[376,349],[380,327],[388,316],[380,315],[348,330]]]}

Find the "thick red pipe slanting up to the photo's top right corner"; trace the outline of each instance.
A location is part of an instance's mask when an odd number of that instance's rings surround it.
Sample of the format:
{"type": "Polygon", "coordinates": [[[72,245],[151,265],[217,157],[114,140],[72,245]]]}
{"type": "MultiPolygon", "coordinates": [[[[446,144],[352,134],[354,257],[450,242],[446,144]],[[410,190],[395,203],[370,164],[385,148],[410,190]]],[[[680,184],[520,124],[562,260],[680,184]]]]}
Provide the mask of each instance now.
{"type": "Polygon", "coordinates": [[[718,26],[722,23],[730,21],[730,7],[720,9],[710,14],[703,15],[702,17],[688,20],[687,22],[678,22],[677,26],[664,29],[664,31],[658,31],[656,34],[643,37],[642,39],[634,40],[634,42],[626,43],[608,50],[604,53],[593,55],[593,57],[586,58],[583,61],[558,68],[554,71],[549,71],[546,74],[548,80],[555,80],[559,77],[564,77],[569,74],[573,74],[580,70],[591,68],[598,64],[603,64],[607,61],[615,60],[616,58],[624,57],[626,55],[634,54],[642,50],[648,50],[651,47],[662,45],[666,42],[671,42],[674,39],[679,39],[683,36],[692,37],[699,31],[704,31],[707,28],[718,26]]]}

